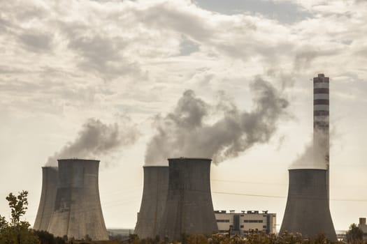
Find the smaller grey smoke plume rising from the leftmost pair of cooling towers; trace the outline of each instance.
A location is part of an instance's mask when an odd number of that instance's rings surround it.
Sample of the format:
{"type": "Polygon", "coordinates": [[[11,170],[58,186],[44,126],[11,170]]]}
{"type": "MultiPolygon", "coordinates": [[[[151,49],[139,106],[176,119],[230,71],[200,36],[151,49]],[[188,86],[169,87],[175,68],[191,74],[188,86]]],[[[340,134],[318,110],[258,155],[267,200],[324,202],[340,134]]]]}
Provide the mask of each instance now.
{"type": "Polygon", "coordinates": [[[48,158],[47,166],[56,166],[61,158],[96,158],[106,155],[120,146],[134,144],[138,132],[134,126],[105,124],[98,119],[88,119],[73,142],[48,158]],[[124,129],[122,129],[124,128],[124,129]]]}

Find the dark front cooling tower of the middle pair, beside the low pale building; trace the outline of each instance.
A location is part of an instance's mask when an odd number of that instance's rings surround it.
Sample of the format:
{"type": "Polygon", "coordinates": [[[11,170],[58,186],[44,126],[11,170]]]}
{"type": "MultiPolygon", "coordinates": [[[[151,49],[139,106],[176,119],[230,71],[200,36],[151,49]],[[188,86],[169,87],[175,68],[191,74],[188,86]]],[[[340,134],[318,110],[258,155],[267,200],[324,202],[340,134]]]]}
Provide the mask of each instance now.
{"type": "Polygon", "coordinates": [[[170,158],[168,195],[159,235],[180,240],[181,234],[218,231],[210,192],[210,159],[170,158]]]}

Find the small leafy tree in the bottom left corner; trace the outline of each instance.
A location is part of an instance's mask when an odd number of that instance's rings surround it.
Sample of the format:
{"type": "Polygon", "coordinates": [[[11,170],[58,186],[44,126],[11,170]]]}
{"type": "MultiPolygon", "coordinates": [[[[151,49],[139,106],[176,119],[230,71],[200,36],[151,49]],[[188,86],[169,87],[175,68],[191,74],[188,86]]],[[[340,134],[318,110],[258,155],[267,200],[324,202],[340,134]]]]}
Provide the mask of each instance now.
{"type": "Polygon", "coordinates": [[[8,222],[0,215],[0,244],[34,244],[39,242],[34,231],[29,229],[29,222],[21,220],[28,206],[27,195],[28,192],[23,190],[17,196],[10,192],[6,197],[11,210],[11,218],[8,222]]]}

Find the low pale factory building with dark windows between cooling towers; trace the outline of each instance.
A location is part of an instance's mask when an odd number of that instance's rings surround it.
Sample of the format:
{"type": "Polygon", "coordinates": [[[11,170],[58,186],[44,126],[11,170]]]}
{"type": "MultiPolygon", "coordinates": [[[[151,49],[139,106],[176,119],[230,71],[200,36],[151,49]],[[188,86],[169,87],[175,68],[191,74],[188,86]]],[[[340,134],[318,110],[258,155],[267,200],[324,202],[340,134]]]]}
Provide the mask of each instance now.
{"type": "Polygon", "coordinates": [[[276,213],[268,213],[268,211],[215,211],[215,219],[217,220],[218,230],[221,233],[238,234],[245,236],[250,233],[266,233],[276,232],[276,213]]]}

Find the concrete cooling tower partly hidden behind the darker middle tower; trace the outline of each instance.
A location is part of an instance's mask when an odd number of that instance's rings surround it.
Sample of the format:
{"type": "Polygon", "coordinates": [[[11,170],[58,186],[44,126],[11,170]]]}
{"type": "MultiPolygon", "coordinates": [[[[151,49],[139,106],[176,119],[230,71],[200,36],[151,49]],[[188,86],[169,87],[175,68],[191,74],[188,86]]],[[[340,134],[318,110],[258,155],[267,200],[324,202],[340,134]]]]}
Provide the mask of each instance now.
{"type": "Polygon", "coordinates": [[[140,238],[154,238],[158,235],[158,225],[166,206],[168,167],[145,166],[143,169],[143,198],[134,233],[140,238]]]}

